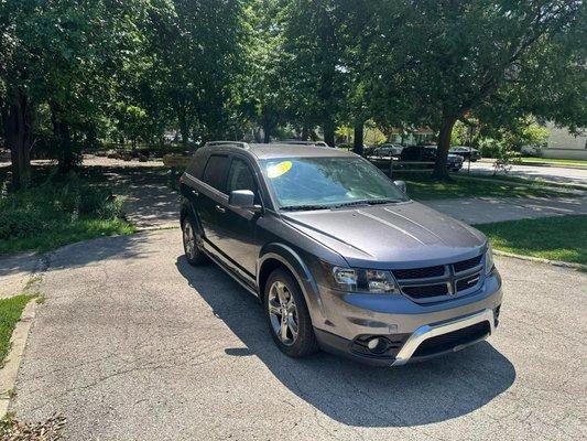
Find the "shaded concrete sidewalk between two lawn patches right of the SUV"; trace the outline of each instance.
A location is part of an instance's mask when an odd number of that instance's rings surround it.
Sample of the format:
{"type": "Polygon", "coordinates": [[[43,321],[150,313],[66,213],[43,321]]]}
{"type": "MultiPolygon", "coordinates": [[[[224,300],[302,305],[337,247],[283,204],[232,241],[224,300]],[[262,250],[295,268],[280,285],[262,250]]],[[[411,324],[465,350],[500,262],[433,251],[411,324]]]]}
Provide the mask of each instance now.
{"type": "Polygon", "coordinates": [[[587,214],[586,197],[465,197],[424,204],[467,224],[587,214]]]}

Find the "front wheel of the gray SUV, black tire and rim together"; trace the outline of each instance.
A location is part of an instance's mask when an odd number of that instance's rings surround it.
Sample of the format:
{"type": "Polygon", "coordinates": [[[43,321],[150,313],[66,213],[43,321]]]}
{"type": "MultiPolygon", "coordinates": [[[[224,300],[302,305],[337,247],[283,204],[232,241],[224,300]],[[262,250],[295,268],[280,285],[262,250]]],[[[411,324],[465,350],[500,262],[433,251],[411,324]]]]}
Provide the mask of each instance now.
{"type": "Polygon", "coordinates": [[[294,277],[275,269],[265,283],[265,318],[271,337],[290,357],[304,357],[318,351],[304,294],[294,277]]]}

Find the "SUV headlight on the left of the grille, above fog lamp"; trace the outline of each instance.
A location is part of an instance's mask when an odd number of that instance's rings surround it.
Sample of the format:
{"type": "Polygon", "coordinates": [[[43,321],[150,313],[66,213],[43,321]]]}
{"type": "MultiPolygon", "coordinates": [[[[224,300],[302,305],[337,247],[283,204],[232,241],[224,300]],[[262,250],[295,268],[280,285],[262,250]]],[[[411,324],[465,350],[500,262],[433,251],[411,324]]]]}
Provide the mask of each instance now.
{"type": "Polygon", "coordinates": [[[379,269],[331,268],[334,286],[341,291],[396,294],[400,292],[390,271],[379,269]]]}

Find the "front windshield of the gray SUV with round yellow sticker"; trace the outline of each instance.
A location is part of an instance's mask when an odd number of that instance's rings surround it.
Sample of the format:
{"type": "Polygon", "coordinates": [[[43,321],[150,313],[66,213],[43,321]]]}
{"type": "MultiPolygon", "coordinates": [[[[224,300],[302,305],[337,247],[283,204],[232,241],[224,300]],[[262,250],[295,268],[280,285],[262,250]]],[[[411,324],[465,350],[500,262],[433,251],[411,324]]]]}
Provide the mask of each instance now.
{"type": "Polygon", "coordinates": [[[282,209],[407,201],[379,169],[363,159],[280,158],[261,169],[282,209]]]}

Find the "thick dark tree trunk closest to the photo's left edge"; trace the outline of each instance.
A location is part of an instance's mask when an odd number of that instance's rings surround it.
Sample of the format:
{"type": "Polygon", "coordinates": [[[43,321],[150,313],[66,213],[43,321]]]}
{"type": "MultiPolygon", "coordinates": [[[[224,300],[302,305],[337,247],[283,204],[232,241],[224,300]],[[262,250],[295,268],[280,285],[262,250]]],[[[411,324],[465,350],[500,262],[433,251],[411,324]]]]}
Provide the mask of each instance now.
{"type": "Polygon", "coordinates": [[[14,94],[4,118],[4,133],[12,161],[12,186],[21,189],[31,180],[32,139],[32,112],[22,90],[14,94]]]}

